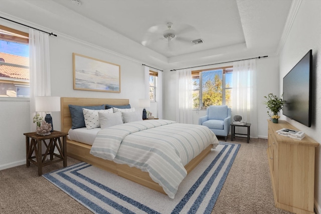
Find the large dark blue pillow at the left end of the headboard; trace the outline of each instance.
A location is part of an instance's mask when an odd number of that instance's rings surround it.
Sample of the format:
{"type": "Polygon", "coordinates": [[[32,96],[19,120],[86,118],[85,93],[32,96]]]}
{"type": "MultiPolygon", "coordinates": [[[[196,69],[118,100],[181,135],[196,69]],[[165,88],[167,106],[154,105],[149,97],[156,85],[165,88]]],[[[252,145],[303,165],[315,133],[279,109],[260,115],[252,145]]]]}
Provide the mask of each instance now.
{"type": "Polygon", "coordinates": [[[70,111],[70,115],[71,115],[71,123],[72,123],[71,128],[72,129],[86,127],[84,113],[82,111],[83,108],[92,109],[92,110],[105,109],[105,105],[101,105],[101,106],[68,105],[68,106],[69,106],[69,111],[70,111]]]}

